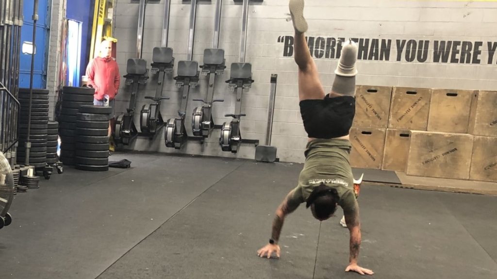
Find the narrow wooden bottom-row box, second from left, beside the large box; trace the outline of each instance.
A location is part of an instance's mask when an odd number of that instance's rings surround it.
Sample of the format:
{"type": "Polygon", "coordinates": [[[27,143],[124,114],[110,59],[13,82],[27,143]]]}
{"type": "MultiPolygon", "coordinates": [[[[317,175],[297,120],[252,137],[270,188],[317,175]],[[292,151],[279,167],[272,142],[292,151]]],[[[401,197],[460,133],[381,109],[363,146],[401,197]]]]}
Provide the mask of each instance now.
{"type": "Polygon", "coordinates": [[[387,129],[382,170],[406,171],[411,131],[387,129]]]}

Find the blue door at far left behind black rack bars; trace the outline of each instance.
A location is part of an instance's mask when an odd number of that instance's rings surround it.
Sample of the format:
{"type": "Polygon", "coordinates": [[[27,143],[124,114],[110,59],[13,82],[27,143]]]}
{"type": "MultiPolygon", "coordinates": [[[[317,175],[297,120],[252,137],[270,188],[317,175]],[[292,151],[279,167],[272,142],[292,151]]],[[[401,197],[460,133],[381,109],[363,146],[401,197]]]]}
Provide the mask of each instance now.
{"type": "MultiPolygon", "coordinates": [[[[21,46],[23,42],[33,41],[33,5],[34,0],[23,1],[24,24],[21,28],[21,46]]],[[[48,0],[38,0],[38,21],[36,22],[36,54],[34,56],[33,88],[45,88],[47,85],[47,52],[49,45],[48,0]]],[[[21,48],[22,49],[22,48],[21,48]]],[[[31,55],[21,50],[19,66],[19,87],[29,87],[31,72],[31,55]]]]}

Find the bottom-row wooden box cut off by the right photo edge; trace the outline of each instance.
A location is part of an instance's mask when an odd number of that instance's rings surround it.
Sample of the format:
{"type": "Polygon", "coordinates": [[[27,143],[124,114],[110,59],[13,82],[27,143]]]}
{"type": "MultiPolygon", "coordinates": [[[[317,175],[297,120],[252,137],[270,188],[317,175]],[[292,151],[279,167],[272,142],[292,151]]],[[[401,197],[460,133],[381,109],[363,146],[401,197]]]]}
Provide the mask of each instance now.
{"type": "Polygon", "coordinates": [[[475,137],[469,179],[497,181],[497,137],[475,137]]]}

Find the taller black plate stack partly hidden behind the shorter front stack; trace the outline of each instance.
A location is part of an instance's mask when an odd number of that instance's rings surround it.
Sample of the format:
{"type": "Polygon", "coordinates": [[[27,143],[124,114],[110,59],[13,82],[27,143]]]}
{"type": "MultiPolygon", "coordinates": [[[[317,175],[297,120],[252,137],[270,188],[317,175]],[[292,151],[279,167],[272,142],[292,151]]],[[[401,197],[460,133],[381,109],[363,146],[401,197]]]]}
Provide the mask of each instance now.
{"type": "Polygon", "coordinates": [[[65,165],[74,165],[76,149],[76,116],[83,105],[93,105],[95,90],[88,87],[69,87],[62,89],[62,108],[59,116],[59,134],[61,137],[61,161],[65,165]]]}

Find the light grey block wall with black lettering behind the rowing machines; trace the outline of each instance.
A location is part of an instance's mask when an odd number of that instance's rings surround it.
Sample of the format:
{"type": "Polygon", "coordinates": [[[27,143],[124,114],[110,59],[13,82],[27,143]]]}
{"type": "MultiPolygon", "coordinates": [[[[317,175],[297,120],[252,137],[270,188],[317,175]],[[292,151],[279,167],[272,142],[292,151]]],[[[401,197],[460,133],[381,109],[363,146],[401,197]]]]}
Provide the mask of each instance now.
{"type": "MultiPolygon", "coordinates": [[[[200,1],[197,6],[193,59],[199,65],[203,64],[203,50],[212,47],[215,5],[213,0],[200,1]]],[[[117,62],[122,75],[126,72],[127,59],[136,57],[138,7],[137,0],[117,0],[115,8],[114,35],[118,39],[117,62]]],[[[153,48],[161,45],[163,11],[164,0],[148,1],[142,58],[149,65],[152,63],[153,48]]],[[[168,47],[173,48],[176,62],[186,59],[189,12],[189,1],[171,0],[168,47]]],[[[497,88],[497,39],[493,32],[497,28],[497,2],[308,0],[305,15],[310,26],[307,35],[318,43],[312,44],[312,53],[313,57],[317,57],[316,64],[326,91],[331,89],[333,70],[337,64],[336,56],[332,56],[332,52],[326,53],[326,44],[337,44],[339,38],[353,38],[364,46],[358,62],[357,84],[480,90],[497,88]],[[377,49],[373,46],[376,43],[377,49]],[[443,55],[440,57],[442,46],[452,51],[448,53],[446,63],[443,62],[443,55]],[[461,57],[463,52],[464,57],[461,57]],[[439,58],[441,62],[437,62],[439,58]]],[[[214,97],[225,99],[223,103],[214,104],[216,124],[230,121],[224,114],[233,113],[235,109],[235,93],[229,91],[225,80],[229,79],[230,64],[239,60],[241,17],[241,4],[223,1],[219,48],[225,49],[228,68],[217,77],[215,84],[214,97]]],[[[246,62],[252,63],[255,83],[250,91],[244,92],[242,112],[247,117],[242,119],[241,133],[243,138],[259,139],[264,144],[270,75],[276,73],[278,85],[271,144],[278,147],[278,157],[282,161],[303,162],[307,137],[299,112],[297,68],[293,57],[288,55],[290,46],[284,43],[292,36],[288,0],[266,0],[249,5],[246,62]]],[[[180,105],[181,90],[175,87],[172,79],[175,75],[176,65],[173,74],[166,77],[164,86],[163,95],[170,97],[162,107],[165,120],[175,117],[180,105]]],[[[207,77],[201,76],[199,86],[190,90],[185,122],[189,135],[191,114],[195,107],[201,105],[192,99],[205,98],[207,83],[207,77]]],[[[121,84],[116,113],[124,112],[129,103],[131,88],[124,85],[124,80],[121,84]]],[[[155,94],[156,84],[157,76],[151,75],[147,85],[141,87],[137,112],[148,104],[143,97],[155,94]]],[[[135,122],[139,123],[139,113],[135,122]]],[[[221,151],[219,136],[220,131],[214,130],[203,145],[189,141],[182,150],[175,150],[165,146],[163,130],[155,139],[137,139],[129,148],[254,157],[255,148],[249,144],[243,144],[237,154],[221,151]]]]}

